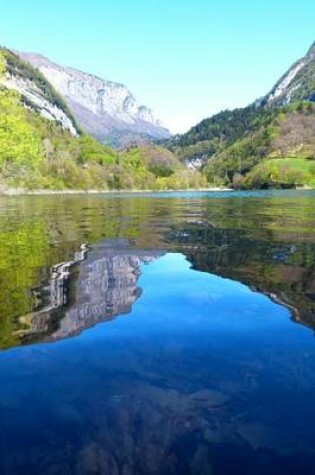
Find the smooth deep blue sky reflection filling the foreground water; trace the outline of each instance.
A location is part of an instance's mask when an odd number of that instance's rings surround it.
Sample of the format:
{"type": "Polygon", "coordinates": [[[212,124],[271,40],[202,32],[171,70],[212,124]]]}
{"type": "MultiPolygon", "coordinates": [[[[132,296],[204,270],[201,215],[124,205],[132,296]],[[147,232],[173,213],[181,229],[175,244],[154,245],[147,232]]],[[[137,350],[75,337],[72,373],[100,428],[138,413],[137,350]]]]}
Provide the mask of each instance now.
{"type": "Polygon", "coordinates": [[[182,254],[142,271],[130,314],[0,355],[1,473],[313,473],[312,333],[182,254]]]}

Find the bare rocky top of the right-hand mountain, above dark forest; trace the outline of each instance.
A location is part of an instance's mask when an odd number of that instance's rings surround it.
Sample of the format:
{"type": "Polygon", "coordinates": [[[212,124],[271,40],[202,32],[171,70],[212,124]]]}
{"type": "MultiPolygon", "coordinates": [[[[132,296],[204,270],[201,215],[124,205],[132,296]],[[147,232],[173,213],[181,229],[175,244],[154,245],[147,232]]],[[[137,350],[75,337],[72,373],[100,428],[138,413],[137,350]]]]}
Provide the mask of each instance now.
{"type": "Polygon", "coordinates": [[[301,100],[315,101],[315,42],[277,81],[262,104],[283,106],[301,100]]]}

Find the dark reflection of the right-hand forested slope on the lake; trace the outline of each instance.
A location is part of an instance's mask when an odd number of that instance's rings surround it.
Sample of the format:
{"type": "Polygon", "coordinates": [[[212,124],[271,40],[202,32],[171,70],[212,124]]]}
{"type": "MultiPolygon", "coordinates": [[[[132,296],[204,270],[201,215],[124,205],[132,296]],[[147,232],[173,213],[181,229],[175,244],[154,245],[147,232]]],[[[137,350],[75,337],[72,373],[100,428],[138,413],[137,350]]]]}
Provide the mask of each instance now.
{"type": "Polygon", "coordinates": [[[246,230],[208,223],[173,226],[167,235],[193,268],[243,282],[286,306],[292,318],[315,329],[315,242],[261,239],[246,230]]]}

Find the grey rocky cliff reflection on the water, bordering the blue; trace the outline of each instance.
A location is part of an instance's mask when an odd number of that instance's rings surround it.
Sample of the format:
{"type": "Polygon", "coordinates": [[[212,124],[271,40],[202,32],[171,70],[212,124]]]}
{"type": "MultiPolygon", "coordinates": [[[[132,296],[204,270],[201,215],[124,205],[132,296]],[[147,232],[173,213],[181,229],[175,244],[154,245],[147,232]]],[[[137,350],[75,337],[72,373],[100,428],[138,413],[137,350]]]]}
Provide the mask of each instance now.
{"type": "Polygon", "coordinates": [[[140,297],[141,264],[161,251],[132,250],[123,239],[107,240],[88,249],[82,245],[74,260],[54,265],[49,282],[34,293],[40,309],[20,318],[22,342],[58,340],[131,312],[140,297]]]}

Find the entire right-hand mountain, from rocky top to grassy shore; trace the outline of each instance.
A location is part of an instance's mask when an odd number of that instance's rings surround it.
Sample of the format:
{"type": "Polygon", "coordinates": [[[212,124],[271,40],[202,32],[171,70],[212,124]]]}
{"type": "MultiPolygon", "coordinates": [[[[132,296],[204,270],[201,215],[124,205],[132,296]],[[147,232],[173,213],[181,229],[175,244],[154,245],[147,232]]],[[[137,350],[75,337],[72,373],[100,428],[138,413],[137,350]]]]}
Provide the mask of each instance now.
{"type": "Polygon", "coordinates": [[[315,43],[262,99],[219,112],[163,145],[216,185],[314,186],[313,102],[315,43]]]}

